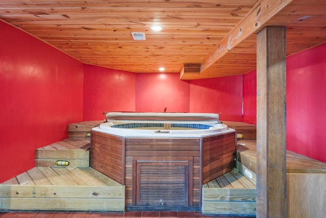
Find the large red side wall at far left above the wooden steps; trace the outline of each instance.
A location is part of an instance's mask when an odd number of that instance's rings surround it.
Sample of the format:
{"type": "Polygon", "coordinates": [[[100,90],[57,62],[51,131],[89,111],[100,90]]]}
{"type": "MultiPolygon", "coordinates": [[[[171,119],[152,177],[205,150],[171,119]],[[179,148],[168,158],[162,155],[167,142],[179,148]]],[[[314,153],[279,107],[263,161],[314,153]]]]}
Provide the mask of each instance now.
{"type": "Polygon", "coordinates": [[[83,64],[0,21],[0,183],[83,119],[83,64]]]}

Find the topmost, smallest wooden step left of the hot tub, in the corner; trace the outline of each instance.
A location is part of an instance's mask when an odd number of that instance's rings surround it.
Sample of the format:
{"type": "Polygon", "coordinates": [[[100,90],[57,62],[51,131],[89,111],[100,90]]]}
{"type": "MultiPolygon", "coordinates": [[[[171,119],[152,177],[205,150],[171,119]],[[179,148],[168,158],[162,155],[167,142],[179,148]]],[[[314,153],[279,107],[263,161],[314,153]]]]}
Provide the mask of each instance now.
{"type": "Polygon", "coordinates": [[[98,127],[104,120],[83,121],[73,124],[68,124],[69,138],[89,138],[92,128],[98,127]]]}

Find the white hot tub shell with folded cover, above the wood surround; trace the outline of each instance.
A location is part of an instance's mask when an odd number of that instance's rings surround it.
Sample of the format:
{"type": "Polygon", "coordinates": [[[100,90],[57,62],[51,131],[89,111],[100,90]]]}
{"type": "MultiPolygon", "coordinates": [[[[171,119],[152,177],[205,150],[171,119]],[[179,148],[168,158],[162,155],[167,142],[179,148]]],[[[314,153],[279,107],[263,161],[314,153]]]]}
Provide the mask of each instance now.
{"type": "Polygon", "coordinates": [[[106,113],[94,131],[123,137],[198,138],[234,132],[215,113],[106,113]]]}

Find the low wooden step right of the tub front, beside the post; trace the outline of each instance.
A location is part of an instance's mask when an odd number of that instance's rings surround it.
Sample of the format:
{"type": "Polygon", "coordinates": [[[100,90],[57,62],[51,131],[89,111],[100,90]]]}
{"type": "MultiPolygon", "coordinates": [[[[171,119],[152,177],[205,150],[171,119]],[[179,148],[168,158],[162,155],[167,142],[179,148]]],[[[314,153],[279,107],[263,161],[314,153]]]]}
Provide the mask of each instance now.
{"type": "Polygon", "coordinates": [[[204,214],[256,215],[256,185],[240,172],[229,172],[203,185],[204,214]]]}

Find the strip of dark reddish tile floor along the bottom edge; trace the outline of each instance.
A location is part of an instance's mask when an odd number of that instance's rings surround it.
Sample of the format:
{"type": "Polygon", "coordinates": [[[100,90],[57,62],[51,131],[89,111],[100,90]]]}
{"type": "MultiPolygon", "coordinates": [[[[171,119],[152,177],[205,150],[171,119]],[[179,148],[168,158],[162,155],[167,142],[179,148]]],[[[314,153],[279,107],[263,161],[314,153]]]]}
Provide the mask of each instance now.
{"type": "MultiPolygon", "coordinates": [[[[126,212],[79,212],[79,211],[3,211],[1,218],[33,217],[33,218],[84,218],[84,217],[170,217],[170,218],[240,218],[234,215],[203,215],[198,211],[126,211],[126,212]]],[[[248,217],[248,216],[246,216],[248,217]]],[[[255,217],[255,216],[250,216],[255,217]]]]}

